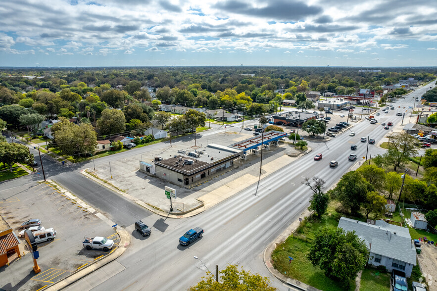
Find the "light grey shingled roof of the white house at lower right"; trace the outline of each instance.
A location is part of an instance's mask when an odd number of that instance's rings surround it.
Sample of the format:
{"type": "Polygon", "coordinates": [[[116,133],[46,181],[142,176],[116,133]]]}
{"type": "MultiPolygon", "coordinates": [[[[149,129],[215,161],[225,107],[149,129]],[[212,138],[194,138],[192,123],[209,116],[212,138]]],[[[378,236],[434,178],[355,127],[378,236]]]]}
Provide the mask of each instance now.
{"type": "Polygon", "coordinates": [[[377,220],[372,225],[345,217],[340,218],[339,228],[355,231],[372,253],[416,265],[416,249],[407,228],[388,224],[384,220],[377,220]]]}

